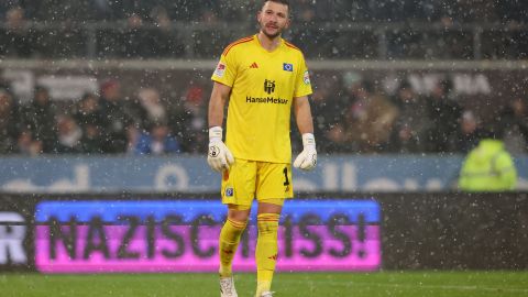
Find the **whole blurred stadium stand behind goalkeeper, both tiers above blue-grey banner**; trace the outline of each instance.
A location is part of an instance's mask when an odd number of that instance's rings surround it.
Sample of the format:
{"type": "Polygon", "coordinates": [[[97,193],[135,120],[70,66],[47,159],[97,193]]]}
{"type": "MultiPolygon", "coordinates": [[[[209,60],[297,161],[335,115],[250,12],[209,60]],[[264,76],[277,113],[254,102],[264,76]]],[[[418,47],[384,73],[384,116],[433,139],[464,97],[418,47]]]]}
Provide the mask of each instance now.
{"type": "MultiPolygon", "coordinates": [[[[200,4],[187,0],[118,2],[1,2],[2,154],[131,153],[139,135],[151,129],[148,118],[162,113],[166,114],[162,122],[180,145],[177,152],[202,153],[206,96],[210,90],[207,69],[212,69],[209,64],[198,70],[184,67],[187,72],[184,75],[170,74],[178,77],[177,88],[173,90],[153,82],[161,77],[155,62],[141,64],[152,67],[153,72],[150,78],[143,76],[141,84],[121,81],[140,78],[117,75],[110,66],[88,72],[97,80],[96,89],[69,98],[54,98],[53,86],[46,84],[33,84],[25,95],[13,87],[15,79],[7,74],[10,68],[6,62],[10,59],[36,64],[38,61],[216,59],[227,41],[254,32],[253,14],[249,15],[248,11],[255,11],[256,1],[230,1],[229,6],[212,0],[200,1],[200,4]],[[113,82],[107,80],[109,77],[113,82]],[[44,87],[52,88],[46,107],[35,103],[44,87]],[[145,90],[150,90],[150,95],[145,95],[145,90]],[[120,99],[108,103],[103,98],[107,91],[120,99]],[[157,99],[144,99],[145,96],[157,99]],[[148,100],[156,102],[150,105],[148,100]],[[31,114],[40,114],[42,119],[31,114]],[[112,118],[123,120],[105,122],[108,114],[121,114],[123,117],[112,118]],[[112,127],[119,127],[114,134],[110,131],[112,127]],[[59,132],[69,135],[59,135],[59,132]],[[65,142],[70,148],[66,150],[65,142]],[[113,146],[105,147],[109,142],[113,146]]],[[[501,119],[510,131],[506,134],[509,147],[526,153],[528,122],[522,86],[504,94],[498,91],[502,94],[498,98],[495,90],[486,92],[486,86],[494,84],[492,80],[507,64],[490,69],[484,79],[479,67],[487,65],[487,61],[527,57],[528,3],[513,0],[415,2],[293,1],[293,18],[302,25],[288,32],[286,38],[301,46],[310,63],[327,65],[316,65],[314,75],[317,88],[312,100],[320,150],[328,153],[465,153],[490,119],[501,119]],[[331,72],[332,61],[338,64],[366,61],[367,64],[331,72]],[[418,78],[416,73],[404,69],[413,68],[416,63],[400,65],[405,74],[397,75],[393,85],[388,84],[391,75],[382,77],[383,70],[376,72],[376,63],[405,61],[421,61],[420,65],[427,62],[480,64],[471,64],[479,65],[477,68],[462,67],[459,73],[452,72],[454,64],[426,74],[418,69],[421,72],[418,78]],[[471,79],[464,80],[464,75],[471,79]],[[475,106],[472,99],[476,97],[497,97],[492,102],[503,105],[501,108],[486,108],[486,103],[475,106]],[[372,122],[376,125],[369,124],[372,122]]],[[[133,63],[127,65],[125,70],[134,68],[130,66],[133,63]]],[[[43,68],[29,67],[35,77],[43,75],[43,68]]],[[[56,73],[61,70],[51,75],[56,73]]]]}

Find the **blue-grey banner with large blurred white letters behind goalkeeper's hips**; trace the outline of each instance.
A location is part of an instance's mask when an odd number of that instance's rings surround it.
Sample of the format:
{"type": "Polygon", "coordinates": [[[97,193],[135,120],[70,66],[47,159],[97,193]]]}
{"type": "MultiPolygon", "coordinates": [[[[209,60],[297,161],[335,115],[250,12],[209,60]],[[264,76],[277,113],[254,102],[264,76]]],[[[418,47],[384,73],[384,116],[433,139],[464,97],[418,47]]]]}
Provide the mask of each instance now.
{"type": "MultiPolygon", "coordinates": [[[[304,193],[444,191],[457,186],[463,157],[421,155],[320,156],[315,170],[294,169],[304,193]],[[381,170],[380,168],[383,168],[381,170]]],[[[515,158],[517,188],[528,189],[528,157],[515,158]]],[[[220,176],[201,156],[0,158],[0,190],[8,193],[215,193],[220,176]],[[50,174],[53,173],[53,174],[50,174]]]]}

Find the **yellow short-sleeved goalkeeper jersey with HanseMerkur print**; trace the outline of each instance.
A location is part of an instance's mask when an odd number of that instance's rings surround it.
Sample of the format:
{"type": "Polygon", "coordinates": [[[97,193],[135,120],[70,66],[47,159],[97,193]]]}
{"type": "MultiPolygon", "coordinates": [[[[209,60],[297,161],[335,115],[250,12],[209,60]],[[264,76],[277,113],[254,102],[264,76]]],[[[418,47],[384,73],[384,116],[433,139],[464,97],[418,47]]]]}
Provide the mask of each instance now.
{"type": "Polygon", "coordinates": [[[226,144],[234,157],[290,163],[292,103],[311,94],[300,50],[280,38],[268,52],[256,35],[241,38],[226,47],[211,79],[231,87],[226,144]]]}

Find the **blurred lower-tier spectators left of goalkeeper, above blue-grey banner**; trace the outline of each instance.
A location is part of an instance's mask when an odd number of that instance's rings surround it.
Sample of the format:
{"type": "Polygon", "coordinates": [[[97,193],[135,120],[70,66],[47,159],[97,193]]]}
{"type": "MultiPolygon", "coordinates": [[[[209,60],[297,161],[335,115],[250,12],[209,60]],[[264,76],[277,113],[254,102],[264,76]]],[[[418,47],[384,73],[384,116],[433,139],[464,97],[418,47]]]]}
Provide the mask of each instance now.
{"type": "Polygon", "coordinates": [[[154,88],[140,88],[133,99],[122,96],[118,80],[57,102],[37,86],[21,105],[0,88],[1,154],[132,154],[197,153],[207,146],[204,89],[190,85],[183,98],[166,105],[154,88]]]}

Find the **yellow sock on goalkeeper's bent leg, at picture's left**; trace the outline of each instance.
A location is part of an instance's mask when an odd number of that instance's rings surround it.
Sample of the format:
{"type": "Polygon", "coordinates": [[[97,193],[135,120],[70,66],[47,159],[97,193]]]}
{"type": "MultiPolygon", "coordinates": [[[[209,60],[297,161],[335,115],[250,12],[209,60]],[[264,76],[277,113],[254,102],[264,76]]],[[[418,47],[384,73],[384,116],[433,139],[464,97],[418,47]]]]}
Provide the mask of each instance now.
{"type": "Polygon", "coordinates": [[[239,246],[240,237],[245,229],[248,222],[238,222],[228,219],[220,232],[220,270],[221,277],[229,277],[232,275],[231,264],[233,263],[234,253],[239,246]]]}

